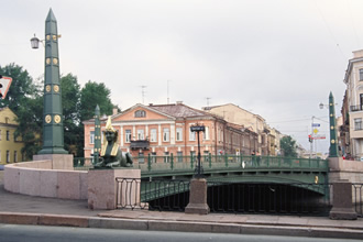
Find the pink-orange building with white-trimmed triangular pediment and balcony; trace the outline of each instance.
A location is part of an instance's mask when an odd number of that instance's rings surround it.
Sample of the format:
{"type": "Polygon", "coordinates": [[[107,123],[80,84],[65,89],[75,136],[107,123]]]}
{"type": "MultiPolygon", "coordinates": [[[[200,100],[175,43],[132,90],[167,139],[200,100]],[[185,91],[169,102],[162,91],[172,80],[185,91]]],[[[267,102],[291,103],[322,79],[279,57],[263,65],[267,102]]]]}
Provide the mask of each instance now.
{"type": "MultiPolygon", "coordinates": [[[[256,147],[257,135],[242,125],[227,122],[222,118],[197,110],[182,102],[173,105],[135,105],[111,117],[112,127],[119,133],[123,152],[132,156],[197,155],[198,138],[190,127],[204,124],[200,133],[201,154],[250,154],[256,147]]],[[[95,121],[85,125],[85,157],[91,157],[95,143],[95,121]]],[[[106,118],[101,120],[105,129],[106,118]]]]}

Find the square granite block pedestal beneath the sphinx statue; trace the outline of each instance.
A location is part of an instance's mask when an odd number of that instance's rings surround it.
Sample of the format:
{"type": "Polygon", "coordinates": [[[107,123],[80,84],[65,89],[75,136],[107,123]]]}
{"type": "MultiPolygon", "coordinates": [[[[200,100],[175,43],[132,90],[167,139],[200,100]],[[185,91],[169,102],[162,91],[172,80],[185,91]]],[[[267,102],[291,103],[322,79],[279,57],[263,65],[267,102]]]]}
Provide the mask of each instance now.
{"type": "Polygon", "coordinates": [[[140,169],[91,169],[87,179],[89,209],[112,210],[118,205],[140,205],[140,169]],[[119,186],[116,178],[122,178],[119,186]]]}

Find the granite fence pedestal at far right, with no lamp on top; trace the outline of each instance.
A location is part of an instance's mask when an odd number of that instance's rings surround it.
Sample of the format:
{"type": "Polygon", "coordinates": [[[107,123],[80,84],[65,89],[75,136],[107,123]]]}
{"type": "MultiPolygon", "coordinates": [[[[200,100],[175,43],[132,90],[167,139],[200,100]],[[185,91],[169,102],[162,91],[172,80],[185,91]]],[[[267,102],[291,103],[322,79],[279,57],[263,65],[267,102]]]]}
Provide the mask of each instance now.
{"type": "Polygon", "coordinates": [[[330,219],[355,220],[356,212],[352,205],[352,184],[348,180],[333,183],[333,207],[330,219]]]}

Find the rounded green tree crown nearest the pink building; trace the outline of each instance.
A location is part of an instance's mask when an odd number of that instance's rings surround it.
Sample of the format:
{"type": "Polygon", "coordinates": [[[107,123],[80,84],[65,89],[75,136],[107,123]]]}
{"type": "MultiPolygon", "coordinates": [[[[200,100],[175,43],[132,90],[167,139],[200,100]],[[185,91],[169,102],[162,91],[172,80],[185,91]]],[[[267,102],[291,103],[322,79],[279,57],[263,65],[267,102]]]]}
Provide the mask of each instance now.
{"type": "Polygon", "coordinates": [[[101,114],[112,114],[113,105],[110,95],[111,91],[105,84],[89,80],[80,91],[80,121],[91,119],[97,105],[100,107],[101,114]]]}

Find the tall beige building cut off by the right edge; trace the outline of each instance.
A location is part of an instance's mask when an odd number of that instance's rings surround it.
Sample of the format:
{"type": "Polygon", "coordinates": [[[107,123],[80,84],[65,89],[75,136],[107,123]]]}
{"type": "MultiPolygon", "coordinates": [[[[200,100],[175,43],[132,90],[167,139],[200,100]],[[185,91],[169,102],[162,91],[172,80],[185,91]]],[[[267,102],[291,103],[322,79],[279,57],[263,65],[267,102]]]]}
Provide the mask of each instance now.
{"type": "Polygon", "coordinates": [[[340,125],[340,130],[345,132],[343,155],[363,160],[363,50],[353,52],[343,81],[346,85],[343,107],[348,107],[342,109],[344,125],[340,125]]]}

